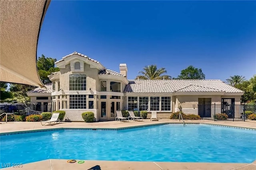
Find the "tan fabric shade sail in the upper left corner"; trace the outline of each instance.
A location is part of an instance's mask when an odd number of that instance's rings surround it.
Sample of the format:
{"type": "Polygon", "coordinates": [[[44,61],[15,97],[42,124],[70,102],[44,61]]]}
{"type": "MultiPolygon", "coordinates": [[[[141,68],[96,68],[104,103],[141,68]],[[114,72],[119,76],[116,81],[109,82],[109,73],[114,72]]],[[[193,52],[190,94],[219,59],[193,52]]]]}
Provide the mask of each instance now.
{"type": "Polygon", "coordinates": [[[36,49],[50,0],[0,0],[0,81],[43,86],[36,49]]]}

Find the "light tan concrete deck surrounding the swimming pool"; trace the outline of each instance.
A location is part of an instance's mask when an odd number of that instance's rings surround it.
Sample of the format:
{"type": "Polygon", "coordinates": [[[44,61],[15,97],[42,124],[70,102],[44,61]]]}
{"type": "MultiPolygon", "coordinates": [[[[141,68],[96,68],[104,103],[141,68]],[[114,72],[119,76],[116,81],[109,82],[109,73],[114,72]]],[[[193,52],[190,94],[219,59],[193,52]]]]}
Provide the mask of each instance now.
{"type": "MultiPolygon", "coordinates": [[[[12,133],[17,131],[34,131],[55,128],[111,128],[119,129],[159,123],[182,123],[179,120],[160,119],[150,121],[148,119],[129,122],[62,122],[56,125],[42,126],[40,122],[1,122],[0,133],[12,133]]],[[[233,127],[256,129],[256,121],[209,121],[209,120],[185,120],[185,123],[207,123],[233,127]]],[[[67,160],[49,159],[24,164],[22,170],[256,170],[256,160],[246,163],[198,163],[198,162],[131,162],[131,161],[99,161],[85,160],[83,164],[67,163],[67,160]]],[[[4,168],[4,165],[1,165],[4,168]]],[[[18,167],[4,168],[16,170],[18,167]]]]}

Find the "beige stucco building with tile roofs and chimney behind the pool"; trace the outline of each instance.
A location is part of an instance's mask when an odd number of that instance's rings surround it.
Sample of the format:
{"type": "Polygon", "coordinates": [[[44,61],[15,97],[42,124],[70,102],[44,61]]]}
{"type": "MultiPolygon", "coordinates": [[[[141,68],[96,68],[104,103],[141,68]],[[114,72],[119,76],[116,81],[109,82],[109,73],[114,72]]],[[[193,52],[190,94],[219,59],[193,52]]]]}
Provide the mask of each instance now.
{"type": "Polygon", "coordinates": [[[95,121],[114,120],[122,109],[147,110],[149,117],[157,111],[159,118],[180,110],[200,114],[198,104],[240,104],[244,93],[221,80],[127,80],[126,64],[115,72],[77,52],[55,64],[60,71],[49,76],[52,85],[27,94],[34,104],[51,102],[53,110],[66,111],[71,121],[83,121],[85,111],[94,112],[95,121]]]}

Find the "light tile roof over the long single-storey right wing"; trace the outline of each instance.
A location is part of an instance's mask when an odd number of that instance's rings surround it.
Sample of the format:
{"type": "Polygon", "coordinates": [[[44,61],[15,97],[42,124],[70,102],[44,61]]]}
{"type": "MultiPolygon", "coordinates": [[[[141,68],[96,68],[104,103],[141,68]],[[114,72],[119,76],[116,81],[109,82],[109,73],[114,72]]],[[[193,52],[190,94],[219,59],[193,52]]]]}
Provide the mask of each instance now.
{"type": "Polygon", "coordinates": [[[221,80],[128,80],[124,92],[243,92],[221,80]]]}

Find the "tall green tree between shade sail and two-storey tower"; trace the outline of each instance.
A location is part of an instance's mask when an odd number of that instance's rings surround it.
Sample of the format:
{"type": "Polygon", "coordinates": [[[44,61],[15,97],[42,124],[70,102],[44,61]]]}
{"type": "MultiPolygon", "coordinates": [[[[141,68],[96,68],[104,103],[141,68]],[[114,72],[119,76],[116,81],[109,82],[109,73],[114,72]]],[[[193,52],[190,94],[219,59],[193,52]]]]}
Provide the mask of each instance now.
{"type": "Polygon", "coordinates": [[[55,65],[54,63],[56,61],[57,61],[56,59],[45,57],[43,54],[41,57],[38,57],[38,60],[37,60],[38,75],[44,84],[51,83],[51,81],[48,78],[48,75],[50,75],[52,72],[56,72],[60,70],[58,67],[54,66],[55,65]]]}

